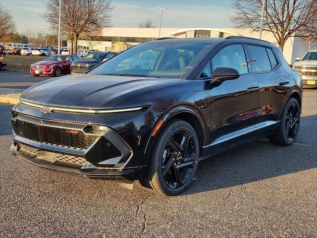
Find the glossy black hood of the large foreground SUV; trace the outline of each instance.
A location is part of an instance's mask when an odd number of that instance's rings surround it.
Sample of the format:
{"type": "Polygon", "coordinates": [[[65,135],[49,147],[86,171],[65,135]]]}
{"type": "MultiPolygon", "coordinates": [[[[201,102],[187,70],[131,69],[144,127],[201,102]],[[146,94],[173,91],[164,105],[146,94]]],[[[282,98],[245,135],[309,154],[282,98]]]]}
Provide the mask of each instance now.
{"type": "Polygon", "coordinates": [[[170,78],[75,74],[37,83],[24,91],[20,99],[47,106],[112,109],[131,96],[181,81],[170,78]]]}

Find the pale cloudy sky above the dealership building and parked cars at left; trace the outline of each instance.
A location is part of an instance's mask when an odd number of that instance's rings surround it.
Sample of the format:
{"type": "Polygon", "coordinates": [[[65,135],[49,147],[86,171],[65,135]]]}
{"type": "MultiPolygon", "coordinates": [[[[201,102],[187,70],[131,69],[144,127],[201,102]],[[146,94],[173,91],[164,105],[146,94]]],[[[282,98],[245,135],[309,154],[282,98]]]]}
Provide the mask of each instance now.
{"type": "MultiPolygon", "coordinates": [[[[49,24],[42,18],[45,0],[0,0],[2,7],[11,11],[18,32],[47,31],[49,24]]],[[[151,19],[159,27],[160,10],[162,27],[229,28],[232,23],[232,0],[112,0],[112,27],[138,27],[140,22],[151,19]]]]}

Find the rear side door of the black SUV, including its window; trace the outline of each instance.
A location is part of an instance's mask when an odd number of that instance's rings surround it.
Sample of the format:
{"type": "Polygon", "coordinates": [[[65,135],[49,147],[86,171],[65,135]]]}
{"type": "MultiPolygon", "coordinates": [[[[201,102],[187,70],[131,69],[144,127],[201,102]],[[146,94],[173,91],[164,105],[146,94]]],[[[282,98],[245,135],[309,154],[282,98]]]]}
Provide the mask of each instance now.
{"type": "MultiPolygon", "coordinates": [[[[261,122],[279,119],[285,94],[289,88],[289,75],[270,48],[248,45],[252,70],[259,82],[259,109],[261,122]]],[[[283,58],[283,57],[282,57],[283,58]]]]}

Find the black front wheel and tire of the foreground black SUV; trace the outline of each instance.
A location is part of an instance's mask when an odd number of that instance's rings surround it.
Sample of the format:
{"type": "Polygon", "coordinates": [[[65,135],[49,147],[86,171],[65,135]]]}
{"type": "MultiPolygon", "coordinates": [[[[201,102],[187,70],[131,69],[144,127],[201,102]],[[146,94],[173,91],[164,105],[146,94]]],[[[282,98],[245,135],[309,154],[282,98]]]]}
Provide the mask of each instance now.
{"type": "Polygon", "coordinates": [[[186,121],[171,119],[154,142],[148,171],[140,183],[163,196],[178,195],[193,179],[198,158],[199,142],[194,128],[186,121]]]}

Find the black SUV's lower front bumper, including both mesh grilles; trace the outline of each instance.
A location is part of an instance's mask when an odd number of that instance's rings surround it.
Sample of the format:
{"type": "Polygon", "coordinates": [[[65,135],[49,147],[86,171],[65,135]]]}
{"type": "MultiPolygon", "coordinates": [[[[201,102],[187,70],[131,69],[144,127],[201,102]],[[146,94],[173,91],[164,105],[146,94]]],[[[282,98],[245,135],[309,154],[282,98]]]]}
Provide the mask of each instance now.
{"type": "Polygon", "coordinates": [[[112,129],[14,112],[11,153],[36,167],[89,178],[137,180],[147,166],[128,166],[132,149],[112,129]]]}

